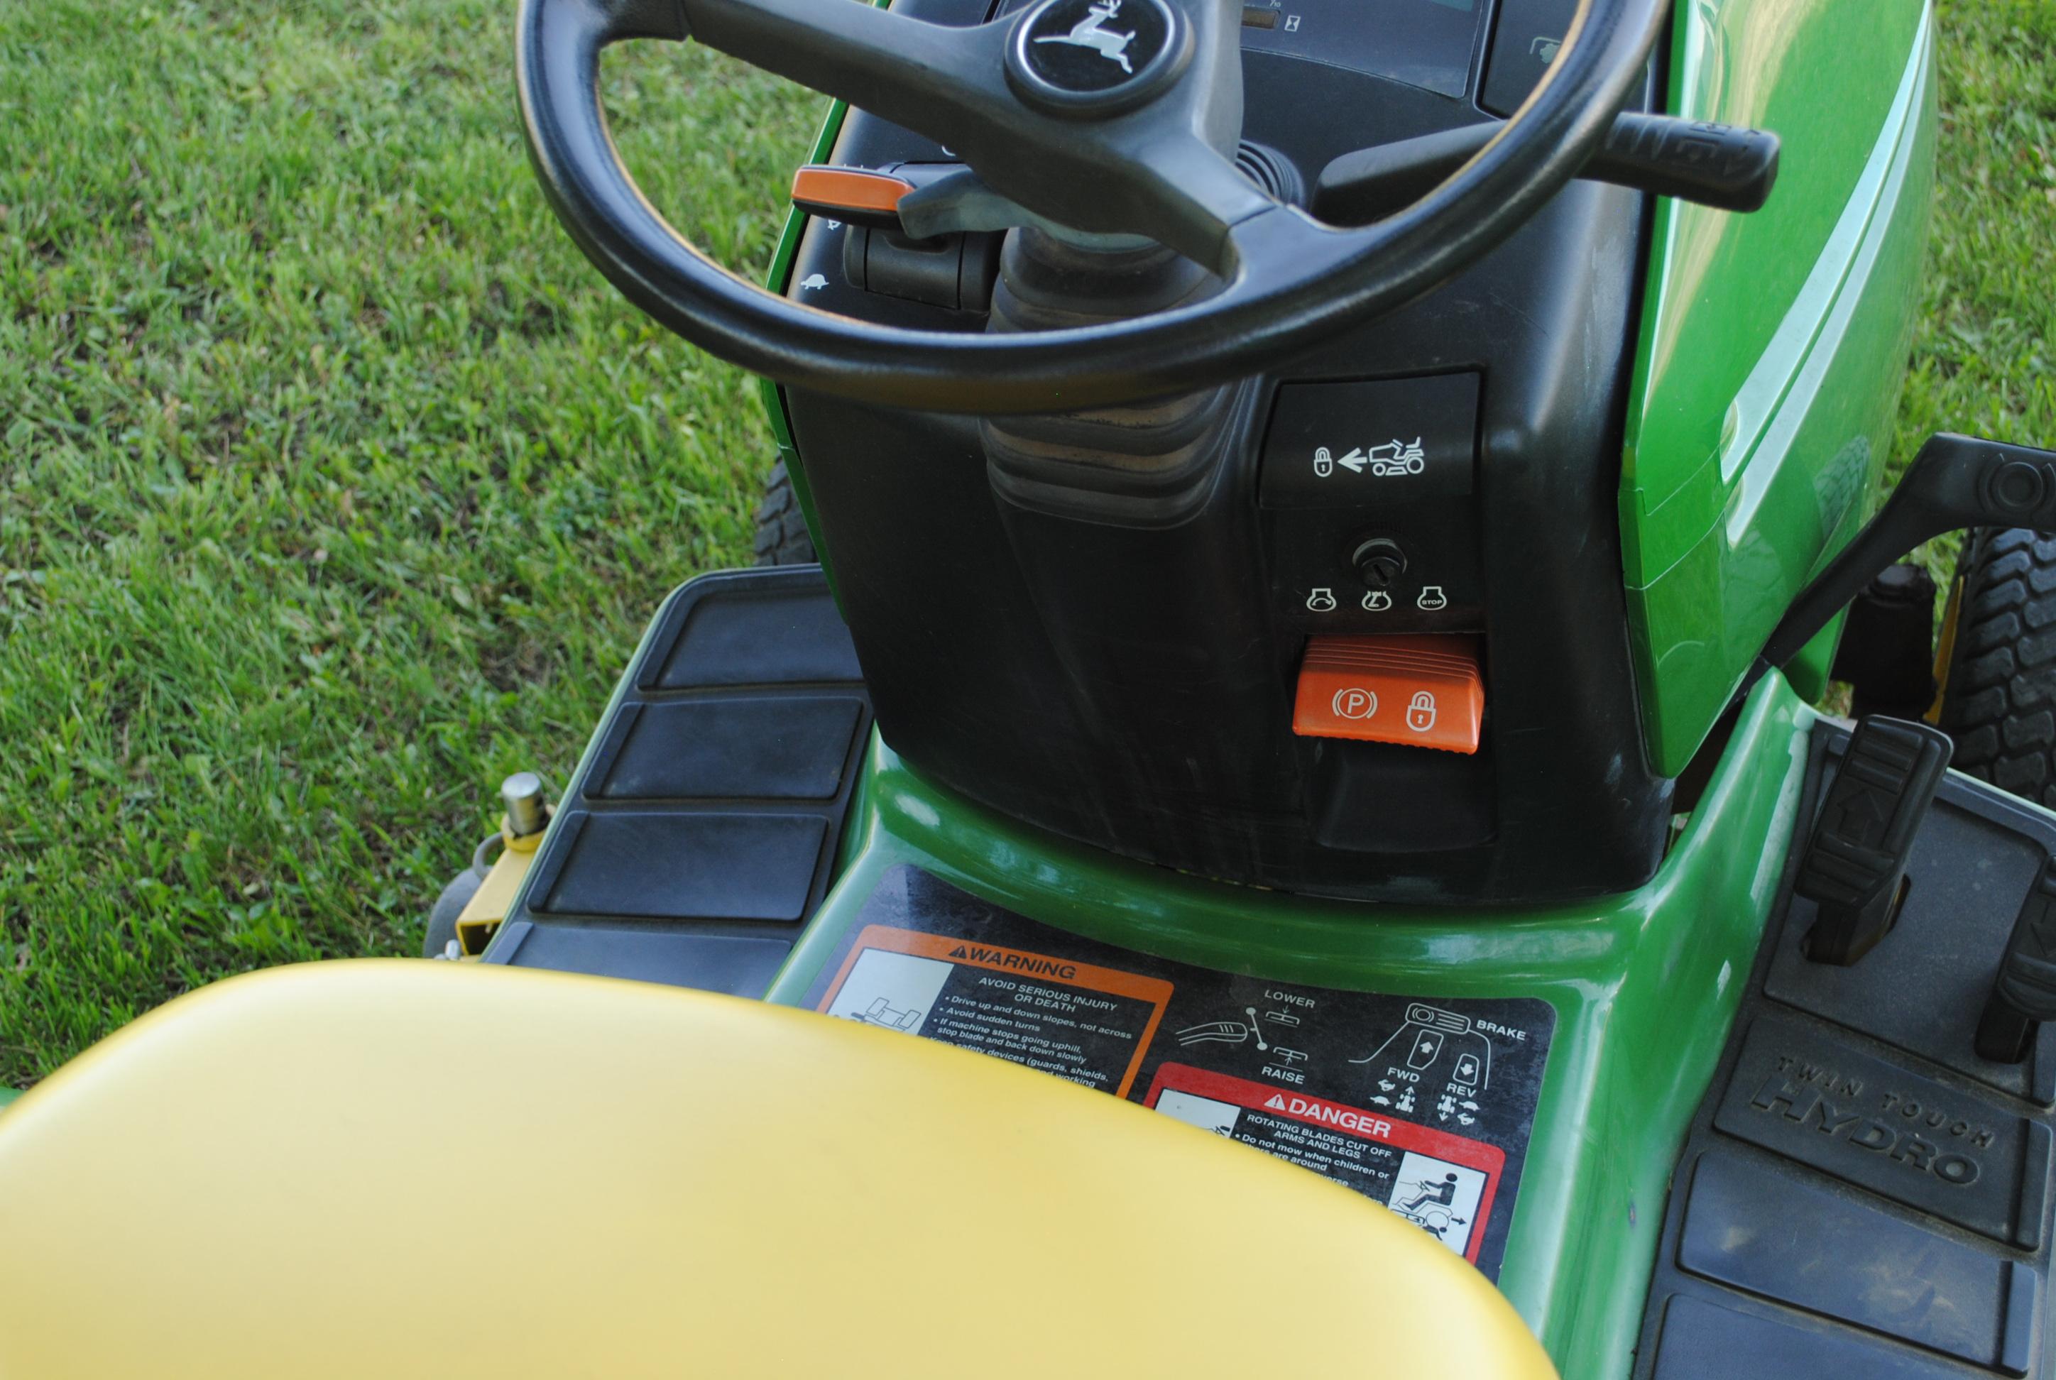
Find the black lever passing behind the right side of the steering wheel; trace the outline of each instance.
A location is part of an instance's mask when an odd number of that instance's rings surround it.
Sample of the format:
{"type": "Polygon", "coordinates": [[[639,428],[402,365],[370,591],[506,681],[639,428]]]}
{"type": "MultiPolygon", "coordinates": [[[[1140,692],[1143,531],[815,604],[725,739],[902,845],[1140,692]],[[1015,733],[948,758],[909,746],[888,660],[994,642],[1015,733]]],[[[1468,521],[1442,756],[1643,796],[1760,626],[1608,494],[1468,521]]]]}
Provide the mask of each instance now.
{"type": "MultiPolygon", "coordinates": [[[[1484,148],[1497,121],[1343,154],[1314,183],[1312,212],[1336,226],[1371,224],[1412,206],[1484,148]]],[[[1754,212],[1778,181],[1778,136],[1674,115],[1614,117],[1606,144],[1579,177],[1754,212]]]]}

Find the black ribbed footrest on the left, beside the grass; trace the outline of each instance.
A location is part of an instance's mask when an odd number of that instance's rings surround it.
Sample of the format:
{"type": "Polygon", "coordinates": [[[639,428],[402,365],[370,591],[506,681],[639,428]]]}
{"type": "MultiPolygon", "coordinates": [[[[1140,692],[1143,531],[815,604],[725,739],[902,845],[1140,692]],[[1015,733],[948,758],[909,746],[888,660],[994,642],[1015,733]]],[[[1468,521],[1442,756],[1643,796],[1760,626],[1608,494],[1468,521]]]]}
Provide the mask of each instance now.
{"type": "Polygon", "coordinates": [[[870,728],[818,566],[681,586],[485,960],[763,995],[833,880],[870,728]]]}

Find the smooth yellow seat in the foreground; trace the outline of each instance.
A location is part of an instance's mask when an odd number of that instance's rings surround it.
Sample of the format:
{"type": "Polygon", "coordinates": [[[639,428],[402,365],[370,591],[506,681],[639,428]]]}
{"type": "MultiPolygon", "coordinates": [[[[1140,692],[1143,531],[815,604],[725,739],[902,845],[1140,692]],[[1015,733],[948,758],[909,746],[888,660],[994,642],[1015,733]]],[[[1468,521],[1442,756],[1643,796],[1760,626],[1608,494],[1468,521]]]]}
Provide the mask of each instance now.
{"type": "Polygon", "coordinates": [[[1554,1372],[1347,1189],[757,1002],[280,969],[0,1115],[0,1376],[1100,1374],[1554,1372]]]}

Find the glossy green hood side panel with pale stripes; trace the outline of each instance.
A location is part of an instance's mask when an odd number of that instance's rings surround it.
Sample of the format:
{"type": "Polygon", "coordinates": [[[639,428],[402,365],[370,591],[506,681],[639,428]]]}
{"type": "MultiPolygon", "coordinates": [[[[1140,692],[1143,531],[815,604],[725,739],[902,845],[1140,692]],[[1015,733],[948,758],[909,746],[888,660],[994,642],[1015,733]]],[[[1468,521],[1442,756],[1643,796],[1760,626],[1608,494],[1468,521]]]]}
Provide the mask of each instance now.
{"type": "MultiPolygon", "coordinates": [[[[1754,216],[1659,202],[1620,526],[1649,751],[1678,775],[1877,494],[1935,169],[1920,0],[1680,4],[1669,109],[1776,130],[1754,216]]],[[[1832,635],[1793,681],[1818,695],[1832,635]]]]}

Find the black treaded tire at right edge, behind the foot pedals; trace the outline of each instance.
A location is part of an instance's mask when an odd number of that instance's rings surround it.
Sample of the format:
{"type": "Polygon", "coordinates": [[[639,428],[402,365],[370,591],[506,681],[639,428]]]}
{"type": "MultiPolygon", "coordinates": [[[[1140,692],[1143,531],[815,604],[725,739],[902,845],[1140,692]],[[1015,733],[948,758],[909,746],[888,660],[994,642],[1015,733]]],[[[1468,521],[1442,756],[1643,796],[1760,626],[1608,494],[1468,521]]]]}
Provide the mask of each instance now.
{"type": "Polygon", "coordinates": [[[1941,728],[1955,769],[2056,806],[2056,539],[1978,533],[1957,561],[1941,728]]]}

